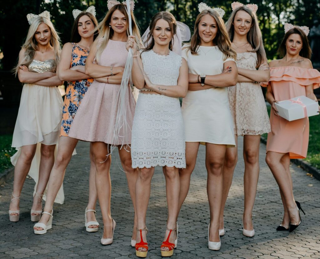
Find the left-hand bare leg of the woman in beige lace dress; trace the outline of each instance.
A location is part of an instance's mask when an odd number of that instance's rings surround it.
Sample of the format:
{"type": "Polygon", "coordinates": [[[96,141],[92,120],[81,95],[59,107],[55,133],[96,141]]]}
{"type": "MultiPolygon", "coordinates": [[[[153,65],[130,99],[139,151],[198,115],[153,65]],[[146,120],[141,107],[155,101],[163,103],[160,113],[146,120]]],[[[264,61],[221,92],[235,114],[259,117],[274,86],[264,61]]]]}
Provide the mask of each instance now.
{"type": "MultiPolygon", "coordinates": [[[[238,137],[235,135],[236,146],[238,145],[238,137]]],[[[228,147],[226,151],[226,156],[224,158],[224,164],[222,169],[223,176],[223,187],[222,187],[222,200],[221,200],[221,211],[219,217],[219,229],[224,228],[223,213],[228,198],[228,193],[231,187],[233,172],[238,161],[238,148],[228,147]]]]}

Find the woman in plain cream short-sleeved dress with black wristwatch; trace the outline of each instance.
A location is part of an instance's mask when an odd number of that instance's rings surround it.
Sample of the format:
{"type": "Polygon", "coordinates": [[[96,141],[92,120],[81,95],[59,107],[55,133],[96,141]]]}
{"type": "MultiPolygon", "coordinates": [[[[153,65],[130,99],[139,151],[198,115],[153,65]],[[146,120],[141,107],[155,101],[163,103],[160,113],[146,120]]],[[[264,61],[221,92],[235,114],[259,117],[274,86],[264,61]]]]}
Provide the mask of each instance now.
{"type": "Polygon", "coordinates": [[[222,166],[227,147],[236,145],[227,92],[227,87],[236,84],[236,53],[221,18],[224,11],[203,3],[199,4],[199,11],[191,43],[182,49],[189,67],[189,87],[182,101],[187,166],[180,170],[179,208],[188,194],[200,142],[205,142],[210,206],[208,246],[219,250],[222,166]]]}

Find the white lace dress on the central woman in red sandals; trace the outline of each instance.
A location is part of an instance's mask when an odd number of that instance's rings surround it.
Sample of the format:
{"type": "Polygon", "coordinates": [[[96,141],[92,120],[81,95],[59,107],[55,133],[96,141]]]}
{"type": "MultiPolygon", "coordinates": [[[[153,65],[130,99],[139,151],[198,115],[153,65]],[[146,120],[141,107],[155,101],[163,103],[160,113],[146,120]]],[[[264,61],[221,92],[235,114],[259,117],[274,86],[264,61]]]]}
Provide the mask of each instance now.
{"type": "MultiPolygon", "coordinates": [[[[143,68],[152,83],[177,85],[181,56],[170,51],[159,55],[153,50],[141,55],[143,68]]],[[[184,127],[179,98],[144,94],[140,90],[133,118],[132,168],[186,167],[184,127]]]]}

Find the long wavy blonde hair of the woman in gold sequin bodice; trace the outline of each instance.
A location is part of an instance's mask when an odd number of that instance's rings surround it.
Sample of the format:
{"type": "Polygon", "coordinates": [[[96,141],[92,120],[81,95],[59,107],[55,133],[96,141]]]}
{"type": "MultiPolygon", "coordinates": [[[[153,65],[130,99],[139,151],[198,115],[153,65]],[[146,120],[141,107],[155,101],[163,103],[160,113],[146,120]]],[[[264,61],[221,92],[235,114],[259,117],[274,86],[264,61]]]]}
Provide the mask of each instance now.
{"type": "Polygon", "coordinates": [[[48,25],[48,27],[50,28],[51,31],[51,39],[50,39],[50,45],[53,47],[55,56],[56,56],[56,67],[57,64],[60,62],[60,51],[61,51],[61,46],[60,46],[60,37],[57,33],[57,31],[54,29],[54,26],[52,24],[52,22],[45,17],[36,17],[28,30],[28,35],[26,38],[26,41],[24,42],[24,44],[21,46],[22,49],[25,49],[25,53],[24,53],[24,58],[22,60],[19,61],[18,65],[13,69],[15,72],[15,75],[17,75],[18,70],[19,70],[19,65],[25,65],[25,66],[29,66],[30,63],[32,62],[35,54],[36,54],[36,49],[37,49],[37,41],[35,38],[35,33],[36,30],[38,29],[39,25],[41,23],[44,23],[46,25],[48,25]]]}

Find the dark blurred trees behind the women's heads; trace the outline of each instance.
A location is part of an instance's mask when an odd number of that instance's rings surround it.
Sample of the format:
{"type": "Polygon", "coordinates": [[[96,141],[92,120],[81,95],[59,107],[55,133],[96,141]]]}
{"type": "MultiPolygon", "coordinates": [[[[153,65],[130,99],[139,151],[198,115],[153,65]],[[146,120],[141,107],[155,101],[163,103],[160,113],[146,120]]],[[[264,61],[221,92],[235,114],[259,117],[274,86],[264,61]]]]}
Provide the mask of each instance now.
{"type": "MultiPolygon", "coordinates": [[[[136,0],[134,13],[140,25],[141,34],[148,27],[153,14],[158,11],[170,11],[178,21],[186,23],[191,32],[198,15],[198,4],[194,0],[136,0]]],[[[209,6],[221,7],[226,11],[224,20],[231,13],[233,1],[203,0],[209,6]]],[[[240,1],[243,4],[258,4],[257,15],[264,38],[268,59],[277,58],[276,51],[284,35],[284,22],[306,25],[310,29],[314,18],[319,18],[320,0],[251,0],[240,1]]],[[[107,0],[17,0],[1,4],[0,9],[0,69],[11,70],[17,62],[20,46],[28,31],[28,13],[41,13],[48,10],[51,20],[60,32],[62,43],[70,40],[70,30],[74,21],[73,9],[85,10],[95,5],[97,18],[101,20],[107,9],[107,0]]]]}

